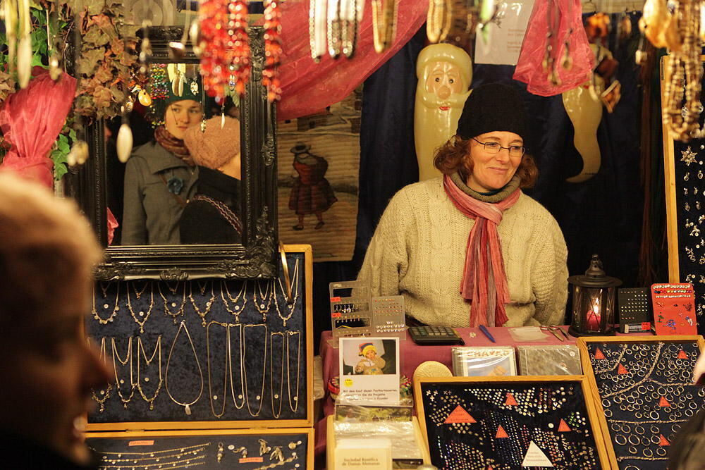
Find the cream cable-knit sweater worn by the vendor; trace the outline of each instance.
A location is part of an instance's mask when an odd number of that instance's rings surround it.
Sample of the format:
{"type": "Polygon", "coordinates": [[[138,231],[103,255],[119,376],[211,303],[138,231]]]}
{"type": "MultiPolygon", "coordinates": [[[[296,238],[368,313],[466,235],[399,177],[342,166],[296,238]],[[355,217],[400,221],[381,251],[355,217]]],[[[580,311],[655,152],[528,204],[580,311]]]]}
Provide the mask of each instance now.
{"type": "MultiPolygon", "coordinates": [[[[423,323],[468,326],[460,280],[472,225],[448,199],[443,178],[403,187],[384,211],[357,279],[373,296],[403,295],[407,314],[423,323]]],[[[522,194],[504,211],[498,233],[511,299],[504,326],[562,324],[568,250],[556,219],[522,194]]]]}

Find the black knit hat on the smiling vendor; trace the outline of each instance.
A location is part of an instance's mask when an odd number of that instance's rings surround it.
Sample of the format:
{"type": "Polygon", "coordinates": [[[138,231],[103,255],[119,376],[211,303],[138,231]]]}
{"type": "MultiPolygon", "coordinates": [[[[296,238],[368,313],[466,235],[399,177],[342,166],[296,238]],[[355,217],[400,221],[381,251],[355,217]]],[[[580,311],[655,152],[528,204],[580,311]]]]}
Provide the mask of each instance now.
{"type": "Polygon", "coordinates": [[[514,132],[527,140],[524,103],[517,90],[508,85],[480,85],[467,97],[455,133],[467,140],[496,130],[514,132]]]}

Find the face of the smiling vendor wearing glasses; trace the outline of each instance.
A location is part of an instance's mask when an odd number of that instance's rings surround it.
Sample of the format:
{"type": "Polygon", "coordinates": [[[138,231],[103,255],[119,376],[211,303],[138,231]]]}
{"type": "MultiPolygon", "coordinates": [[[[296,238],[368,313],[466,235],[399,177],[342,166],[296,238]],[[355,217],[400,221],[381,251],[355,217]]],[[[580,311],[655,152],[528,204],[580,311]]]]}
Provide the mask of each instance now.
{"type": "Polygon", "coordinates": [[[467,177],[467,186],[477,192],[490,192],[504,187],[514,177],[522,157],[510,156],[507,147],[524,146],[522,138],[514,132],[496,130],[470,139],[467,158],[472,159],[473,168],[467,177]],[[491,154],[482,143],[495,142],[503,149],[491,154]]]}

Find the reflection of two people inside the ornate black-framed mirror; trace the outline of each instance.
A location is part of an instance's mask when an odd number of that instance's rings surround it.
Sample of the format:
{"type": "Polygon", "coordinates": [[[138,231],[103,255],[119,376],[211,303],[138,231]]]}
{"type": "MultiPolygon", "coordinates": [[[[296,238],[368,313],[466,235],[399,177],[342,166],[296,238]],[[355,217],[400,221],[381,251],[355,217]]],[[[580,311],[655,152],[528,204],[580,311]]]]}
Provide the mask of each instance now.
{"type": "Polygon", "coordinates": [[[124,166],[114,154],[119,122],[106,125],[111,245],[242,242],[239,104],[206,97],[195,63],[152,65],[129,116],[135,147],[124,166]]]}

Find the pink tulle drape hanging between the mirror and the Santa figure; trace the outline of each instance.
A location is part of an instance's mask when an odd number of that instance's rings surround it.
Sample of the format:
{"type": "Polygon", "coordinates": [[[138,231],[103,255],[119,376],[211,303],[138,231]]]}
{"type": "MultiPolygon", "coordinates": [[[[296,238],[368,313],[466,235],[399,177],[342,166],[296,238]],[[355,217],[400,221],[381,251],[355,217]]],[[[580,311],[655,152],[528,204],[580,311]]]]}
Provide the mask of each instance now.
{"type": "MultiPolygon", "coordinates": [[[[387,0],[389,1],[389,0],[387,0]]],[[[372,4],[365,1],[355,55],[320,63],[311,58],[309,44],[309,1],[289,0],[281,4],[283,55],[279,73],[282,97],[277,119],[293,119],[319,113],[337,103],[406,44],[426,21],[428,0],[404,0],[398,6],[396,39],[382,54],[372,41],[372,4]]]]}

